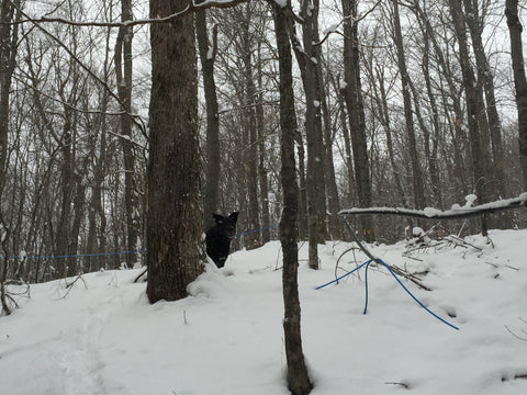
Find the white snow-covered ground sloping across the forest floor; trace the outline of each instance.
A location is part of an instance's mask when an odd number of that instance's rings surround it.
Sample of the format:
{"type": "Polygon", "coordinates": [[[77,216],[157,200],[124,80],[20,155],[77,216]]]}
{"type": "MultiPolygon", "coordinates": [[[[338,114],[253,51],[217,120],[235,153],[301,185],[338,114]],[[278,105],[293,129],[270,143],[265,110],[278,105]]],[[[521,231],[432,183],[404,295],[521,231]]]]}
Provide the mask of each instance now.
{"type": "MultiPolygon", "coordinates": [[[[527,232],[491,233],[472,247],[371,247],[389,264],[422,276],[431,292],[383,268],[315,290],[335,278],[349,244],[321,246],[307,269],[301,245],[304,353],[313,395],[526,394],[527,232]],[[514,334],[514,335],[513,335],[514,334]],[[523,377],[522,377],[523,376],[523,377]]],[[[338,274],[366,261],[348,252],[338,274]]],[[[210,268],[192,296],[149,305],[138,270],[86,274],[66,297],[64,282],[33,285],[21,308],[0,317],[0,394],[289,394],[281,319],[280,245],[270,242],[210,268]]]]}

